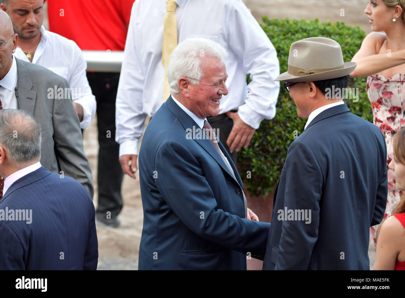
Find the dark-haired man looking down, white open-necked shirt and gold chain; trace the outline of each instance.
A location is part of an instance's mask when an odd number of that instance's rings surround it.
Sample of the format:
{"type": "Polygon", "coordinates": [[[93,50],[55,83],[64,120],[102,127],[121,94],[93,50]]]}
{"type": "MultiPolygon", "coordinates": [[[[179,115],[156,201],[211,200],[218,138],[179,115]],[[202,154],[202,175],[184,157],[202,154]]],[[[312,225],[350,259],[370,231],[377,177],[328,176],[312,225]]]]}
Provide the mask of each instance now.
{"type": "MultiPolygon", "coordinates": [[[[96,113],[96,99],[86,77],[87,64],[74,41],[42,26],[44,2],[3,0],[1,9],[8,13],[14,33],[18,34],[14,56],[44,66],[68,81],[80,127],[85,129],[96,113]]],[[[58,90],[52,90],[52,93],[58,94],[58,90]]]]}

